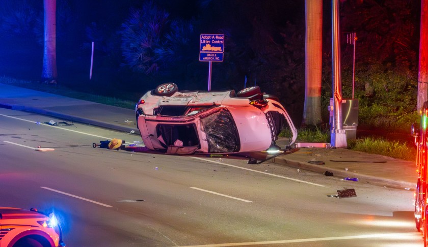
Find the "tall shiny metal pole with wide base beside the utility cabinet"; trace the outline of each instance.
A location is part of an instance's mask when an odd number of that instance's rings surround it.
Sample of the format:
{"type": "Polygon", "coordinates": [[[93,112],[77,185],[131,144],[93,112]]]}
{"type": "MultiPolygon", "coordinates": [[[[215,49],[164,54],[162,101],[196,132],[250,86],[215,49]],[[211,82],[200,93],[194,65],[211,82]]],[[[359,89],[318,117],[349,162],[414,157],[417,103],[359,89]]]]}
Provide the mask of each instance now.
{"type": "Polygon", "coordinates": [[[347,147],[346,131],[342,122],[342,81],[340,72],[339,0],[332,0],[332,54],[333,54],[333,126],[332,147],[347,147]]]}

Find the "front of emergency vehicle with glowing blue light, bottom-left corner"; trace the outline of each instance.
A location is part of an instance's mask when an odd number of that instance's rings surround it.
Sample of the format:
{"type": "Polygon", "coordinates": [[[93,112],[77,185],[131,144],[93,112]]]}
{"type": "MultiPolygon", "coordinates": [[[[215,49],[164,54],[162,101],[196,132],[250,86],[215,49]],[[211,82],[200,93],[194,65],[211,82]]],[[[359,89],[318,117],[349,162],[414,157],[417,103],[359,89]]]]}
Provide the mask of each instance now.
{"type": "Polygon", "coordinates": [[[0,207],[0,247],[65,246],[61,235],[53,213],[47,216],[35,208],[0,207]]]}

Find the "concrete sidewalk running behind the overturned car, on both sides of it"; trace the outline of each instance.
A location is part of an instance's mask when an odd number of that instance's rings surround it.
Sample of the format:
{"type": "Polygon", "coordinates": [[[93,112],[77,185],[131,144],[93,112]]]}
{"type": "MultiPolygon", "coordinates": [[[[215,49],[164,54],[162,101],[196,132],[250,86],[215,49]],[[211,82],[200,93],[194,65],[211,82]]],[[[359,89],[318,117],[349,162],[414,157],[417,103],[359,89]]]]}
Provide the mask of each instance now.
{"type": "MultiPolygon", "coordinates": [[[[135,112],[132,109],[77,100],[6,84],[0,84],[0,107],[140,134],[136,125],[135,112]]],[[[277,142],[281,147],[285,143],[285,140],[277,142]]],[[[359,179],[359,183],[406,190],[414,190],[417,179],[414,162],[345,148],[300,148],[297,152],[277,157],[275,163],[322,174],[329,171],[338,178],[356,177],[359,179]],[[322,161],[325,164],[311,164],[309,163],[311,161],[322,161]]]]}

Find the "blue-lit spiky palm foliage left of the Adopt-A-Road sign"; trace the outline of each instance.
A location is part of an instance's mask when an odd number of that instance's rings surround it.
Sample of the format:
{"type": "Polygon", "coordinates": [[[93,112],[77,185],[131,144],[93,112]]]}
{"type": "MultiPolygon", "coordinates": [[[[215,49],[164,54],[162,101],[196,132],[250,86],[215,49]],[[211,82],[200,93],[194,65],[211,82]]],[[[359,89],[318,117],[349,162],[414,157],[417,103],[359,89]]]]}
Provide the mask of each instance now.
{"type": "Polygon", "coordinates": [[[120,32],[124,64],[146,75],[165,72],[177,61],[186,64],[192,33],[190,21],[170,18],[152,1],[132,8],[120,32]]]}

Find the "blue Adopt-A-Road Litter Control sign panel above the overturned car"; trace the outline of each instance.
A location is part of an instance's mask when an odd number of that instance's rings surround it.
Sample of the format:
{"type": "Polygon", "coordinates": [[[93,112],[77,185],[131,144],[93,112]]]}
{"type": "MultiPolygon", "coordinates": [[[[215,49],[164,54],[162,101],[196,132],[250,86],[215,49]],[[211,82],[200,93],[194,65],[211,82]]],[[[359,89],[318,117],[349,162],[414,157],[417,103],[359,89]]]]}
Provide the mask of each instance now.
{"type": "Polygon", "coordinates": [[[224,34],[201,34],[199,61],[223,61],[224,34]]]}

